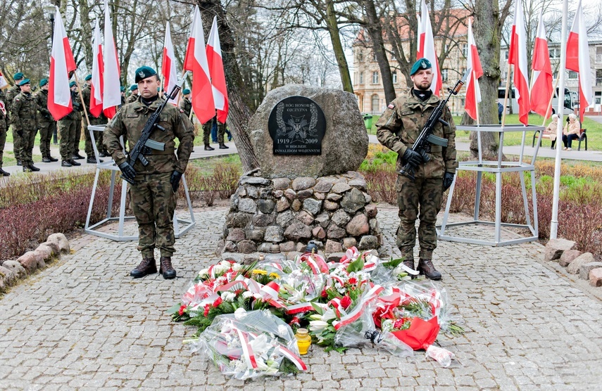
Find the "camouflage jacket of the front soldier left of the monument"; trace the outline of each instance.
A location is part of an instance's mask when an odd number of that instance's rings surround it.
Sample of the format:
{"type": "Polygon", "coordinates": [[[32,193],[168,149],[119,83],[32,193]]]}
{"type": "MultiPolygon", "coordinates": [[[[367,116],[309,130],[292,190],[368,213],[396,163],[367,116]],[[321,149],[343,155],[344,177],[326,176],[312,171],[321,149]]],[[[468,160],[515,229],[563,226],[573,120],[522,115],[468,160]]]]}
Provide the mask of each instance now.
{"type": "MultiPolygon", "coordinates": [[[[149,106],[139,100],[129,103],[120,108],[108,123],[104,132],[104,145],[117,165],[126,160],[126,156],[121,150],[119,136],[127,134],[127,143],[129,149],[132,150],[140,138],[144,124],[161,103],[160,99],[149,106]]],[[[134,163],[134,169],[139,174],[159,174],[174,170],[184,172],[193,148],[192,122],[182,113],[182,110],[173,105],[165,105],[158,124],[165,128],[165,132],[155,129],[150,139],[165,143],[165,151],[151,150],[151,154],[144,155],[149,160],[149,165],[144,167],[141,162],[137,161],[134,163]],[[174,154],[176,138],[180,140],[177,157],[174,154]]]]}

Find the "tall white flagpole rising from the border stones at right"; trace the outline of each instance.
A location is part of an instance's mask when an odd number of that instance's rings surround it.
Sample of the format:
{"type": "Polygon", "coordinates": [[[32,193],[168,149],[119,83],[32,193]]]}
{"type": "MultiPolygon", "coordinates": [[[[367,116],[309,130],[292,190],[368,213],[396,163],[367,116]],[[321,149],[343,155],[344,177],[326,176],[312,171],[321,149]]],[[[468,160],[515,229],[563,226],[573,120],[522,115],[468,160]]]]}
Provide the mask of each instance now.
{"type": "MultiPolygon", "coordinates": [[[[563,99],[558,97],[558,126],[556,127],[556,142],[560,142],[563,139],[563,108],[564,108],[564,92],[565,92],[565,73],[566,73],[566,59],[567,59],[567,13],[568,13],[568,0],[563,0],[563,30],[560,35],[560,87],[559,92],[563,92],[563,99]]],[[[554,161],[554,193],[552,200],[552,219],[550,222],[550,238],[556,239],[558,237],[558,200],[560,198],[560,150],[562,148],[556,147],[556,160],[554,161]]]]}

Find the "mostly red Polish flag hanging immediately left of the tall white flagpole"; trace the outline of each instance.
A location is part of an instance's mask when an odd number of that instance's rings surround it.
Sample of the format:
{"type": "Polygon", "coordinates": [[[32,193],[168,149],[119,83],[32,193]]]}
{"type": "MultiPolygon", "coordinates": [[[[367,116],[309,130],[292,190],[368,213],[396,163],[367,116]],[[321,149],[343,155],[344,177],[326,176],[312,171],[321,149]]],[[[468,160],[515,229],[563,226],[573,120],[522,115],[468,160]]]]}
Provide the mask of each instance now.
{"type": "Polygon", "coordinates": [[[539,24],[533,47],[531,62],[533,80],[531,85],[531,110],[544,118],[549,117],[548,105],[552,97],[552,65],[548,51],[548,39],[544,30],[544,10],[539,13],[539,24]]]}

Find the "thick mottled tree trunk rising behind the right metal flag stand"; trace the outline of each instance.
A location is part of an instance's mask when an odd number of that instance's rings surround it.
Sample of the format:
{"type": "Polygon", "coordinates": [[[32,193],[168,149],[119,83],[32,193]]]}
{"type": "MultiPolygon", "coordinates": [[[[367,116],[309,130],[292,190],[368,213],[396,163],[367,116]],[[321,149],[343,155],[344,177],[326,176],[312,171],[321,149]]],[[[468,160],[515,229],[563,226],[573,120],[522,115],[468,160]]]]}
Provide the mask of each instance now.
{"type": "MultiPolygon", "coordinates": [[[[500,80],[501,23],[498,0],[475,2],[475,43],[479,51],[483,76],[479,79],[482,101],[479,104],[481,124],[498,123],[498,84],[500,80]]],[[[477,136],[471,134],[470,153],[476,157],[477,136]]],[[[494,132],[481,133],[481,146],[485,160],[495,160],[498,152],[498,135],[494,132]]]]}

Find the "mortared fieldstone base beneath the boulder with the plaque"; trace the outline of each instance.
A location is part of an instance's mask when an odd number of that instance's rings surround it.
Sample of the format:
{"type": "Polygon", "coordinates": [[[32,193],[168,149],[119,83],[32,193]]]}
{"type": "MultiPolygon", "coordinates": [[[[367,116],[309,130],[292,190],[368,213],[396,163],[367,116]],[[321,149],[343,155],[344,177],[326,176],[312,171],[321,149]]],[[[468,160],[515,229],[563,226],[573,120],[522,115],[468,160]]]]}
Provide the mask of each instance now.
{"type": "Polygon", "coordinates": [[[382,233],[371,200],[363,175],[355,171],[270,179],[255,170],[241,177],[230,198],[218,255],[244,260],[244,254],[268,254],[272,244],[287,255],[303,252],[309,241],[327,255],[353,246],[377,249],[382,233]]]}

